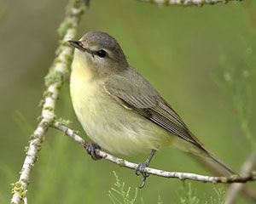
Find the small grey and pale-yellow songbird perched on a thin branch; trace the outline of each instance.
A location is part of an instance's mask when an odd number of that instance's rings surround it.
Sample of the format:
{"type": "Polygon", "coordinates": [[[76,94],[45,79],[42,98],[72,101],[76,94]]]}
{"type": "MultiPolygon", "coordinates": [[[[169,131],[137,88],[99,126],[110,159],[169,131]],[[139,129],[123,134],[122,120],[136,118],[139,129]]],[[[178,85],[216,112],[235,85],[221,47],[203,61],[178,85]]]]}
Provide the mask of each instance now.
{"type": "Polygon", "coordinates": [[[95,143],[87,148],[93,159],[102,147],[123,155],[150,152],[137,166],[143,184],[144,168],[161,147],[173,145],[213,161],[225,172],[229,167],[195,138],[171,105],[129,65],[119,43],[108,33],[90,31],[75,47],[70,93],[84,131],[95,143]]]}

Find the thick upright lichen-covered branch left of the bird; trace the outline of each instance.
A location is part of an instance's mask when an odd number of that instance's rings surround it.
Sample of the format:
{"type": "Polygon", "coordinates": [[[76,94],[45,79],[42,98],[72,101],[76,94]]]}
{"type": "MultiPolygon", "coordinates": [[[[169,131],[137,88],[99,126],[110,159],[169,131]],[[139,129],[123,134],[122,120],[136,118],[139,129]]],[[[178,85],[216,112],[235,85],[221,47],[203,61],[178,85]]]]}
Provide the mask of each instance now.
{"type": "Polygon", "coordinates": [[[49,124],[55,120],[55,102],[58,98],[61,85],[67,75],[70,65],[70,58],[73,54],[73,48],[67,45],[67,40],[76,36],[79,19],[87,8],[89,1],[71,1],[66,18],[63,20],[59,35],[61,42],[56,51],[55,61],[45,77],[46,91],[43,97],[43,109],[38,126],[32,133],[29,140],[29,146],[26,148],[26,158],[20,171],[20,178],[13,187],[13,197],[11,203],[18,204],[20,200],[26,201],[27,185],[29,183],[32,166],[37,160],[38,151],[44,140],[44,134],[47,132],[49,124]]]}

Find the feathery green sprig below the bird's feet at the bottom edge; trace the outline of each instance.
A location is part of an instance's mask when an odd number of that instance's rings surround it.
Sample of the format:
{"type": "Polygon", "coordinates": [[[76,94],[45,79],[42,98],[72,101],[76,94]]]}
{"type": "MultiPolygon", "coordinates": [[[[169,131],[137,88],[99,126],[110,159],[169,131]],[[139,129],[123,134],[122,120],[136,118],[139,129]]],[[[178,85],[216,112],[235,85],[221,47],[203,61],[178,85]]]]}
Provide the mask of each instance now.
{"type": "Polygon", "coordinates": [[[113,201],[113,204],[134,204],[137,199],[137,188],[135,189],[135,195],[131,198],[131,187],[128,187],[125,190],[125,182],[121,182],[115,172],[113,172],[113,175],[116,179],[116,183],[114,184],[114,187],[108,191],[108,196],[111,201],[113,201]]]}

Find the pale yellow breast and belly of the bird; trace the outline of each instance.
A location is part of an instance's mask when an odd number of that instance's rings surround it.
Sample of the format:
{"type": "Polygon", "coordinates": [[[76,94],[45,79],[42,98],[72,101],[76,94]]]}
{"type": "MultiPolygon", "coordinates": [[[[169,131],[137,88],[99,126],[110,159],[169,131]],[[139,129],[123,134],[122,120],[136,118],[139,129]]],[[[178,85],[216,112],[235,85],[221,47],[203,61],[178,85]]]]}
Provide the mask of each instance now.
{"type": "Polygon", "coordinates": [[[172,134],[119,105],[96,82],[89,84],[76,78],[71,80],[70,91],[84,131],[103,149],[127,155],[147,153],[172,143],[172,134]]]}

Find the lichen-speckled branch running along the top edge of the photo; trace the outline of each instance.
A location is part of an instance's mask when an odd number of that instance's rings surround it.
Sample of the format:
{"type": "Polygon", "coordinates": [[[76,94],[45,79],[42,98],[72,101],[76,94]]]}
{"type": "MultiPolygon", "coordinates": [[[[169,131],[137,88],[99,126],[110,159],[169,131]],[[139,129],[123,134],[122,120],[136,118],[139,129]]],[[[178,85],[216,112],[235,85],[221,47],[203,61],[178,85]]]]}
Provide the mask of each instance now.
{"type": "Polygon", "coordinates": [[[144,3],[154,3],[158,5],[180,5],[180,6],[202,6],[205,4],[240,2],[242,0],[138,0],[144,3]]]}

